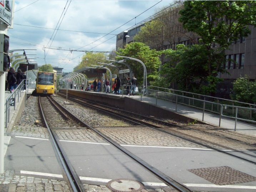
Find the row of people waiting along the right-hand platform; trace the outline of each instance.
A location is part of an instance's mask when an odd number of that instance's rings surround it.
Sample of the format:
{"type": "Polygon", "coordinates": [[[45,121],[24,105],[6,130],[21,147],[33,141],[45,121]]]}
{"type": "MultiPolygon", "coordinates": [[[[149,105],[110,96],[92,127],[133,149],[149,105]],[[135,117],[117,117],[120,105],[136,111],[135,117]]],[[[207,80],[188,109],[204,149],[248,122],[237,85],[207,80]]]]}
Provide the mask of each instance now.
{"type": "MultiPolygon", "coordinates": [[[[135,94],[135,89],[137,87],[137,79],[135,78],[135,76],[132,76],[132,79],[130,77],[126,78],[127,83],[125,84],[126,87],[124,88],[128,95],[134,95],[135,94]]],[[[103,88],[104,88],[104,92],[106,93],[110,93],[111,90],[114,92],[114,94],[119,95],[119,93],[121,92],[120,86],[121,86],[121,81],[119,79],[119,77],[117,77],[111,86],[111,81],[109,81],[108,78],[105,79],[104,83],[103,83],[103,88]]],[[[71,82],[70,84],[70,88],[73,88],[73,84],[71,82]]],[[[74,85],[74,89],[76,89],[77,86],[76,84],[74,85]]],[[[77,88],[78,89],[78,88],[77,88]]],[[[93,91],[93,92],[101,92],[101,81],[100,79],[94,79],[94,82],[89,83],[87,85],[87,87],[84,89],[84,82],[82,82],[81,85],[81,90],[85,90],[85,91],[93,91]]]]}

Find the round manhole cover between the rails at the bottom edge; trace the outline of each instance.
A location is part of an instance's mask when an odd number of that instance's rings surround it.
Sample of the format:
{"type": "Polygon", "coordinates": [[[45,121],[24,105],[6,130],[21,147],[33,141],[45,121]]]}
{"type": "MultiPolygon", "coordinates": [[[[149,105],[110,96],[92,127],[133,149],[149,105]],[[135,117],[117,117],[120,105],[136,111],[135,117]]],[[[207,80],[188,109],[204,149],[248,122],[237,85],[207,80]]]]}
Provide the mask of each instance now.
{"type": "Polygon", "coordinates": [[[135,180],[116,179],[109,181],[107,187],[115,192],[136,192],[141,191],[144,188],[144,185],[135,180]]]}

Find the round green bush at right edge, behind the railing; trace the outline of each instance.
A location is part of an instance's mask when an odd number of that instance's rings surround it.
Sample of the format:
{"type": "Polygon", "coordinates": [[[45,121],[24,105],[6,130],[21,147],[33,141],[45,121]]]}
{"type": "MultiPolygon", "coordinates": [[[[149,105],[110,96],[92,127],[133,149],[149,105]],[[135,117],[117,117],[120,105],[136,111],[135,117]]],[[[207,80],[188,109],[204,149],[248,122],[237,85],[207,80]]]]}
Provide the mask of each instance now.
{"type": "Polygon", "coordinates": [[[256,81],[250,81],[247,77],[240,77],[233,82],[230,97],[244,103],[256,103],[256,81]]]}

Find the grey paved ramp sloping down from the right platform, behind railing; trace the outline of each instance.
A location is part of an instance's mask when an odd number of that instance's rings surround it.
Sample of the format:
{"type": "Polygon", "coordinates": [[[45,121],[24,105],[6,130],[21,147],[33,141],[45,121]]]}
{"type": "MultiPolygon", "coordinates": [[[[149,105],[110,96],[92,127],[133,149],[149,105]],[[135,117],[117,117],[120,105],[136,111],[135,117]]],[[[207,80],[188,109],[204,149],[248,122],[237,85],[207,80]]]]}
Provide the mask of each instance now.
{"type": "MultiPolygon", "coordinates": [[[[129,97],[129,96],[127,96],[129,97]]],[[[130,98],[140,100],[141,96],[130,96],[130,98]]],[[[156,98],[153,97],[142,97],[142,102],[150,103],[152,105],[156,104],[156,98]]],[[[202,121],[203,118],[203,111],[191,108],[187,105],[177,104],[177,112],[176,112],[176,103],[168,102],[166,100],[157,99],[157,106],[164,108],[166,110],[172,111],[174,113],[178,113],[189,118],[202,121]]],[[[209,123],[210,125],[218,126],[219,127],[220,115],[213,114],[205,111],[204,113],[204,122],[209,123]]],[[[231,118],[221,118],[220,128],[229,129],[230,131],[235,130],[235,119],[231,118]]],[[[237,120],[236,123],[236,131],[239,133],[247,134],[247,135],[254,135],[256,136],[256,125],[245,123],[242,121],[237,120]]]]}

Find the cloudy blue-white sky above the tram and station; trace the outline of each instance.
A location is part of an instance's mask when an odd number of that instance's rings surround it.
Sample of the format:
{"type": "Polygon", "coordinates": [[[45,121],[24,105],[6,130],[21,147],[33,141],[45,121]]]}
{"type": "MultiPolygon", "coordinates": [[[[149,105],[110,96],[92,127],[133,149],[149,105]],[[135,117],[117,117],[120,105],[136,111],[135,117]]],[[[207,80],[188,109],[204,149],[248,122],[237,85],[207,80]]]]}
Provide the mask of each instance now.
{"type": "Polygon", "coordinates": [[[7,32],[10,37],[9,50],[36,49],[26,50],[27,54],[37,54],[28,56],[37,58],[31,61],[35,60],[41,66],[46,60],[52,66],[64,68],[63,72],[72,72],[84,52],[71,53],[65,50],[112,51],[116,47],[118,33],[154,15],[156,9],[172,2],[16,0],[14,25],[7,32]],[[45,48],[44,51],[44,47],[54,49],[45,48]]]}

